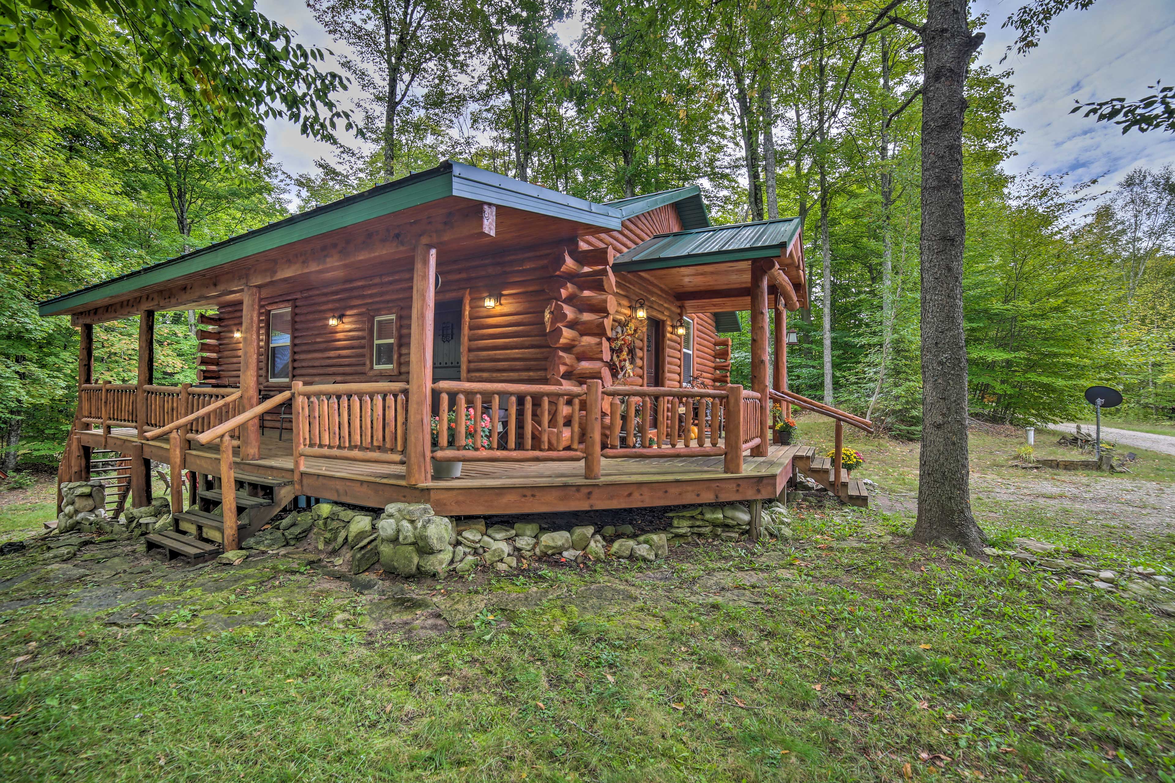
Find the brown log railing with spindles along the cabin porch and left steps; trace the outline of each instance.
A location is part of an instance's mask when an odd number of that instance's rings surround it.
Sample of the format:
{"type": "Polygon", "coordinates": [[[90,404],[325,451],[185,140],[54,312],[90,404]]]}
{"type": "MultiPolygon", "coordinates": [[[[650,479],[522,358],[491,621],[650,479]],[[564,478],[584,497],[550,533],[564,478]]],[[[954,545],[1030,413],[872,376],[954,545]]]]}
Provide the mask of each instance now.
{"type": "MultiPolygon", "coordinates": [[[[83,421],[101,424],[107,432],[112,424],[135,423],[135,386],[90,384],[81,391],[83,421]]],[[[741,473],[743,452],[759,445],[757,433],[766,410],[759,394],[738,385],[604,389],[598,380],[584,387],[438,382],[432,392],[438,420],[446,421],[451,411],[456,424],[451,433],[438,427],[434,460],[583,461],[589,479],[599,478],[602,459],[723,457],[725,472],[741,473]],[[469,416],[477,420],[469,421],[469,416]]],[[[233,447],[239,445],[233,433],[284,404],[293,407],[296,486],[307,457],[405,461],[408,384],[294,382],[289,391],[247,411],[240,410],[242,392],[235,389],[148,385],[143,393],[147,421],[154,427],[143,439],[170,436],[175,507],[182,507],[175,479],[183,470],[187,441],[220,441],[222,484],[231,487],[233,447]]]]}

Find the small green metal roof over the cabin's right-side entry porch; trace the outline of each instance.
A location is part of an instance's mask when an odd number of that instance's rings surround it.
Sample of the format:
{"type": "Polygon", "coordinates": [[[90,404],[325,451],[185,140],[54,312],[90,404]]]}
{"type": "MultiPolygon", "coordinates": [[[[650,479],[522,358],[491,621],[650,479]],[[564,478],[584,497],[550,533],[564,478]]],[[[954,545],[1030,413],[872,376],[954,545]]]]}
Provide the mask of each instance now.
{"type": "Polygon", "coordinates": [[[779,255],[800,231],[800,218],[783,217],[660,234],[616,257],[624,271],[691,266],[779,255]]]}

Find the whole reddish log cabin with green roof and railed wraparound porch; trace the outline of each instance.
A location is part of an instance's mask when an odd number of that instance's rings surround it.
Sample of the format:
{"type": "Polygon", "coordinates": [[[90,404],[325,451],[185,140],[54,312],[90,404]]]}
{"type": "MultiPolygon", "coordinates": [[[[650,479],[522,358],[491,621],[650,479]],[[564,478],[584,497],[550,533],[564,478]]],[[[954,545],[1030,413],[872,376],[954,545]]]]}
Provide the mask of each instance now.
{"type": "MultiPolygon", "coordinates": [[[[838,447],[842,424],[868,428],[787,390],[786,316],[807,298],[799,218],[712,225],[697,185],[593,203],[446,161],[41,303],[81,332],[59,479],[113,463],[118,513],[167,464],[188,540],[166,546],[187,556],[308,498],[757,509],[820,459],[771,443],[773,400],[834,418],[838,447]],[[204,313],[199,383],[154,383],[168,310],[204,313]],[[739,311],[748,389],[721,336],[739,311]],[[94,325],[130,316],[137,382],[94,378],[94,325]]],[[[835,463],[830,485],[859,497],[835,463]]]]}

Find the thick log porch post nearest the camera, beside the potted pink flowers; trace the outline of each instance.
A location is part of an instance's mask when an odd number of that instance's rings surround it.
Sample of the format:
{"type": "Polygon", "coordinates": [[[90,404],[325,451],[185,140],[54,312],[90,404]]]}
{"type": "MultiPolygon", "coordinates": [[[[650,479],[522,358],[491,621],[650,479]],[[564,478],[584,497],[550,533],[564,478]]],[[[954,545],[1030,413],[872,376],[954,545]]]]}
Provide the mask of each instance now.
{"type": "Polygon", "coordinates": [[[404,479],[409,485],[428,484],[432,478],[432,319],[436,304],[437,250],[423,242],[416,245],[412,266],[411,352],[408,362],[408,438],[404,444],[404,479]]]}

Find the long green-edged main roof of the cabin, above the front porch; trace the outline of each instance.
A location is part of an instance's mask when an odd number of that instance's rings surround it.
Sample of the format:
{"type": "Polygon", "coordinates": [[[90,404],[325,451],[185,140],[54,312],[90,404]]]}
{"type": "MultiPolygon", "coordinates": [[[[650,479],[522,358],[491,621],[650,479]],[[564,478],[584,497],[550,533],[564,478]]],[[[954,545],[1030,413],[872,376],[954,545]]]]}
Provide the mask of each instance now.
{"type": "Polygon", "coordinates": [[[39,311],[42,316],[52,316],[92,302],[132,293],[147,285],[166,283],[184,275],[220,266],[257,252],[273,250],[300,239],[390,215],[446,196],[461,196],[499,207],[512,207],[588,225],[598,225],[612,231],[620,228],[623,220],[633,215],[646,212],[663,204],[685,203],[685,207],[678,207],[683,224],[686,224],[687,217],[691,225],[696,223],[699,220],[700,210],[700,220],[704,220],[704,224],[709,225],[709,217],[705,215],[706,208],[701,203],[700,189],[697,185],[624,198],[611,204],[597,204],[585,198],[577,198],[557,190],[494,174],[476,166],[444,161],[441,166],[427,171],[376,185],[354,196],[293,215],[207,248],[200,248],[189,254],[47,299],[39,305],[39,311]]]}

